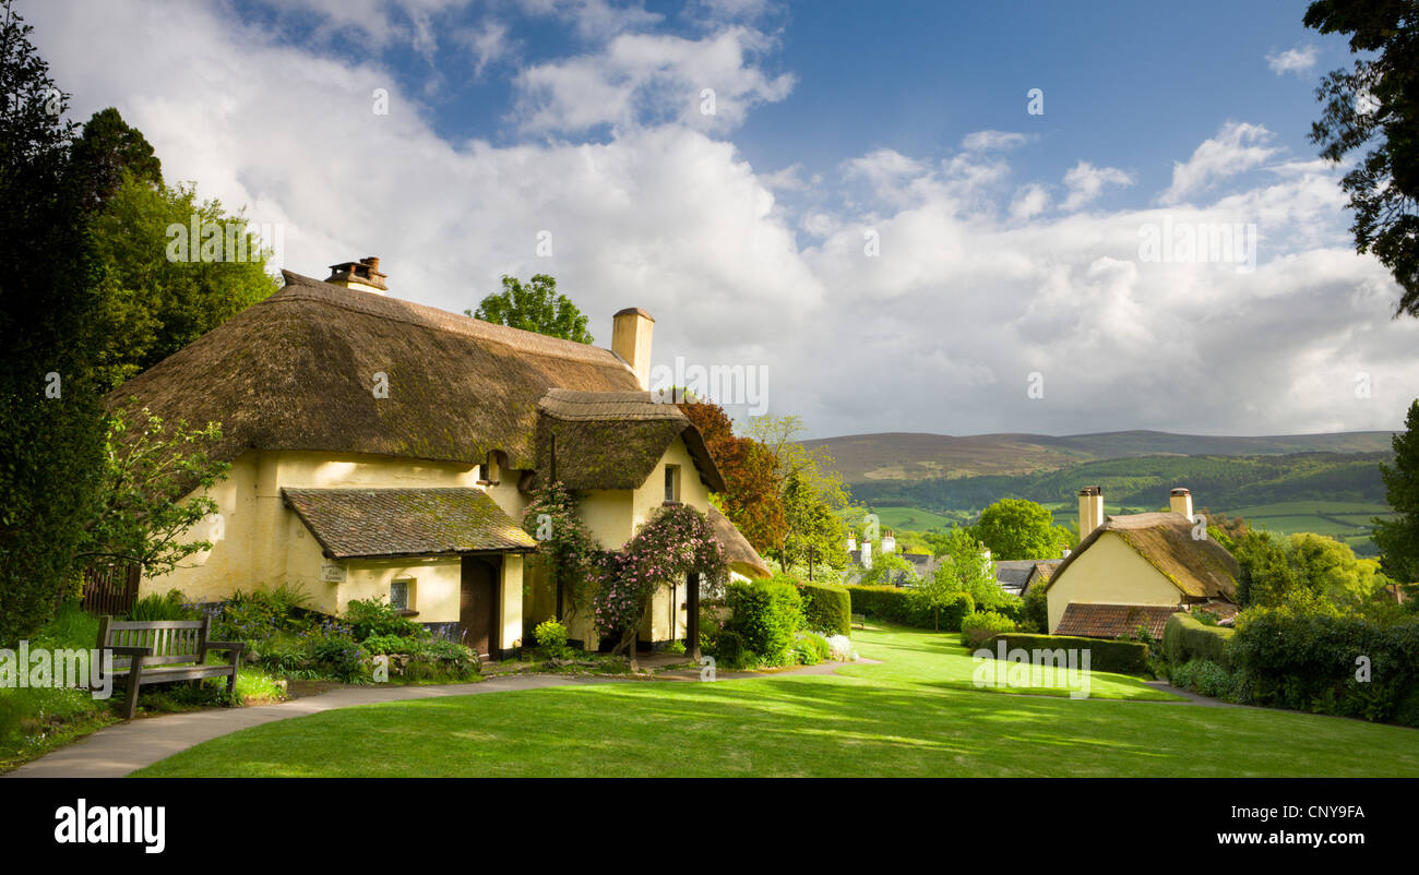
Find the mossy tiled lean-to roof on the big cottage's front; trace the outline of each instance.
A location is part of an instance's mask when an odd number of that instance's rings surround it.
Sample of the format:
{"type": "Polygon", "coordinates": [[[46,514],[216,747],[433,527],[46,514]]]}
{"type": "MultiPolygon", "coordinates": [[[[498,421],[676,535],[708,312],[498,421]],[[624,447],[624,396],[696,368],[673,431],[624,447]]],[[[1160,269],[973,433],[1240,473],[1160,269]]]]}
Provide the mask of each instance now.
{"type": "Polygon", "coordinates": [[[282,489],[331,559],[535,550],[482,489],[282,489]]]}

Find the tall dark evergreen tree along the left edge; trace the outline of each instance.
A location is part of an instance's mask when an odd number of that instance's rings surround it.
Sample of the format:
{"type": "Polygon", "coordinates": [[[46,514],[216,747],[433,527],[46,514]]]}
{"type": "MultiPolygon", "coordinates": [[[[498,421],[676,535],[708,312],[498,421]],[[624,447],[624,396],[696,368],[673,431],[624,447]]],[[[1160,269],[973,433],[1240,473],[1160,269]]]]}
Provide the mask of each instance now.
{"type": "Polygon", "coordinates": [[[0,644],[33,634],[77,580],[104,417],[95,295],[67,95],[4,3],[0,30],[0,644]]]}

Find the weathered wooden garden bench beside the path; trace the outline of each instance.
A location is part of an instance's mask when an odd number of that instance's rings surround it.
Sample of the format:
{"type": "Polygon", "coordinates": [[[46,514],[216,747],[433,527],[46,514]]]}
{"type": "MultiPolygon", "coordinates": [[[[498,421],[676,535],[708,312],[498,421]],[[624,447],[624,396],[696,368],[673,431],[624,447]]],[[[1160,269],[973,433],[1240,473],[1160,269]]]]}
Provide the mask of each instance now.
{"type": "Polygon", "coordinates": [[[211,618],[201,620],[114,620],[98,623],[98,650],[114,654],[114,678],[126,676],[123,718],[138,710],[138,689],[152,684],[227,678],[227,692],[236,689],[237,665],[245,641],[211,641],[211,618]],[[207,665],[207,651],[227,651],[227,661],[207,665]]]}

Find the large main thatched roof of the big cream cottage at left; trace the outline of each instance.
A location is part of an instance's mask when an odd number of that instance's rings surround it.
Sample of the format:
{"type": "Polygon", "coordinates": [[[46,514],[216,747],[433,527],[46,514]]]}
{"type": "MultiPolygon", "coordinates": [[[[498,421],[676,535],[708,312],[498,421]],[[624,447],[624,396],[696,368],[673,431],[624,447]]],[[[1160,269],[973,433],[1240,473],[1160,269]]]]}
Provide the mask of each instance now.
{"type": "Polygon", "coordinates": [[[214,455],[226,461],[254,448],[478,464],[501,450],[511,468],[532,468],[548,389],[639,389],[607,349],[282,274],[281,291],[109,404],[136,396],[166,420],[220,421],[214,455]],[[387,399],[372,391],[376,373],[387,374],[387,399]]]}

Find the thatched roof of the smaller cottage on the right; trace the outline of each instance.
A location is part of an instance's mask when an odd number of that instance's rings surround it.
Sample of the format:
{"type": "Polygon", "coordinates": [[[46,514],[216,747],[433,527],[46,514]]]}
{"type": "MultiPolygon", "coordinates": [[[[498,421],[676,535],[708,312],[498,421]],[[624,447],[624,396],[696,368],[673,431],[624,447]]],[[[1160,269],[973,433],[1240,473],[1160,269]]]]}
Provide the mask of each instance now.
{"type": "Polygon", "coordinates": [[[1130,513],[1110,516],[1080,542],[1078,549],[1050,576],[1047,586],[1064,577],[1076,559],[1083,556],[1105,532],[1112,532],[1158,569],[1189,600],[1225,598],[1236,601],[1236,557],[1208,537],[1192,537],[1193,523],[1182,513],[1130,513]]]}

